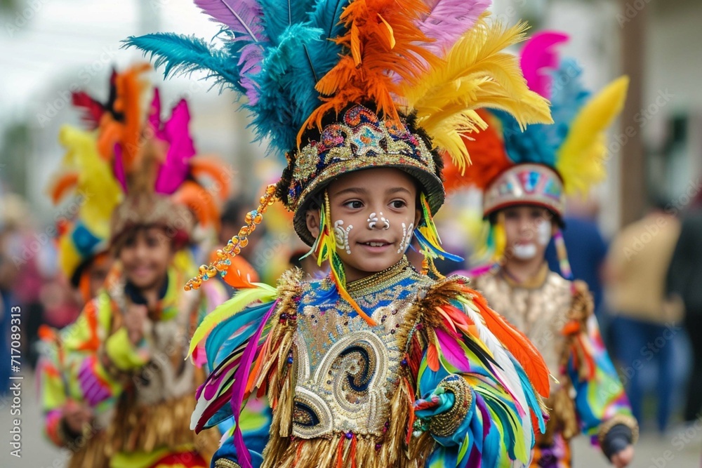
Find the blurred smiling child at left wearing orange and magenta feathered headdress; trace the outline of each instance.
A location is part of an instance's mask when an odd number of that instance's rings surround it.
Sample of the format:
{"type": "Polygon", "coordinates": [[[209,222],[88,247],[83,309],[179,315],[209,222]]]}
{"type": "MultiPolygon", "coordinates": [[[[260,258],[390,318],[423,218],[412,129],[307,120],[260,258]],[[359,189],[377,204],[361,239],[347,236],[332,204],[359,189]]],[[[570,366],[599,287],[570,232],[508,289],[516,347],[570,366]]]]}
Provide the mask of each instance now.
{"type": "Polygon", "coordinates": [[[141,74],[148,68],[113,74],[107,104],[75,96],[97,128],[84,135],[86,151],[100,154],[93,162],[105,176],[88,177],[102,184],[88,194],[95,197],[90,201],[112,201],[107,185],[119,196],[107,235],[117,265],[77,322],[55,335],[59,359],[48,385],[62,391],[53,396],[87,408],[82,425],[60,418],[58,441],[81,446],[100,440],[93,444],[100,453],[74,456],[74,466],[206,467],[218,447],[218,434],[190,430],[194,389],[204,370],[183,358],[188,335],[222,302],[223,291],[212,283],[188,293],[180,284],[196,271],[188,249],[196,220],[207,228],[219,219],[218,203],[201,178],[218,180],[222,198],[226,181],[220,180],[221,166],[194,156],[185,100],[162,121],[156,91],[143,111],[141,74]]]}

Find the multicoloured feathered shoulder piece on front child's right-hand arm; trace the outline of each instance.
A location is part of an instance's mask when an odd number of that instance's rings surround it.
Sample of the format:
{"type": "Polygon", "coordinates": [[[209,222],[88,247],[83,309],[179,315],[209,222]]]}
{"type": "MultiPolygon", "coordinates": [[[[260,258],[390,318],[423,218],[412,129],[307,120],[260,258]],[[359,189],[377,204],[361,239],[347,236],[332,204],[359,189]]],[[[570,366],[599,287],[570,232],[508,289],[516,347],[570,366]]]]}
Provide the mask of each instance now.
{"type": "Polygon", "coordinates": [[[501,467],[509,461],[505,454],[515,466],[524,466],[536,428],[545,431],[541,396],[550,392],[548,368],[527,337],[467,282],[451,276],[431,288],[424,300],[432,307],[422,318],[427,327],[409,344],[408,364],[417,374],[420,395],[452,374],[462,375],[475,392],[477,409],[460,453],[437,446],[426,466],[501,467]],[[417,340],[427,341],[425,354],[417,340]]]}

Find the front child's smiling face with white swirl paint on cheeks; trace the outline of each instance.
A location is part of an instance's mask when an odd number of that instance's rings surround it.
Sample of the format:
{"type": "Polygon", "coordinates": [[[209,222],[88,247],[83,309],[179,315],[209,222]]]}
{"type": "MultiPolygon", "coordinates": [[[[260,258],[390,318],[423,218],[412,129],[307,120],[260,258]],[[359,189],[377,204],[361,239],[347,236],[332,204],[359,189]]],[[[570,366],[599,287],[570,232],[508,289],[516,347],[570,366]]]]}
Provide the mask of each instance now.
{"type": "MultiPolygon", "coordinates": [[[[420,219],[413,178],[395,168],[366,169],[343,175],[328,190],[336,250],[347,281],[399,262],[420,219]]],[[[310,213],[307,225],[317,236],[319,214],[310,213]]]]}

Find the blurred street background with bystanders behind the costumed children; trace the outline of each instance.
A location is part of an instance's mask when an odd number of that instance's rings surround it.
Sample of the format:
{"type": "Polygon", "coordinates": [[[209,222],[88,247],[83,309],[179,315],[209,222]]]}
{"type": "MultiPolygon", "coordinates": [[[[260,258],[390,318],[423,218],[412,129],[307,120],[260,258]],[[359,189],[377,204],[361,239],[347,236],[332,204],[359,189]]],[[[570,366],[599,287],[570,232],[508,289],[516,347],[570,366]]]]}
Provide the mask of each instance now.
{"type": "MultiPolygon", "coordinates": [[[[574,274],[595,293],[609,351],[639,408],[642,434],[631,466],[699,467],[702,1],[494,0],[492,10],[508,25],[526,20],[532,32],[567,32],[562,55],[578,60],[593,91],[621,74],[631,78],[608,142],[607,180],[587,199],[569,200],[573,227],[564,236],[574,274]],[[628,298],[651,290],[651,307],[627,307],[628,298]]],[[[0,467],[65,464],[42,434],[32,374],[41,323],[60,328],[79,314],[48,234],[67,208],[51,206],[45,187],[63,155],[59,128],[80,124],[70,93],[106,100],[112,67],[143,60],[121,41],[156,31],[211,38],[218,27],[192,0],[0,0],[0,394],[9,382],[11,307],[22,310],[25,377],[22,458],[8,455],[0,436],[0,467]]],[[[238,228],[241,213],[254,207],[284,161],[264,157],[265,142],[252,142],[232,93],[211,88],[201,74],[150,77],[167,105],[189,100],[199,154],[217,154],[234,171],[234,202],[223,228],[238,228]]],[[[437,217],[446,246],[468,259],[480,231],[478,208],[475,193],[459,193],[437,217]]],[[[263,281],[272,283],[301,248],[290,224],[273,211],[246,252],[263,281]]],[[[11,398],[0,397],[0,434],[7,440],[11,398]]],[[[576,468],[608,466],[585,436],[574,451],[576,468]]]]}

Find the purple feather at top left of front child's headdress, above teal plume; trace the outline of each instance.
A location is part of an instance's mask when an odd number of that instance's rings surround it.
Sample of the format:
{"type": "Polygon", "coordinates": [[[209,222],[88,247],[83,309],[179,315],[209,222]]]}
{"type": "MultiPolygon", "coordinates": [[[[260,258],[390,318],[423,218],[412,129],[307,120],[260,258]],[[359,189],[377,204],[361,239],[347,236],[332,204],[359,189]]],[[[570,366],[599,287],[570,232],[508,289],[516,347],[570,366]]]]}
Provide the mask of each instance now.
{"type": "Polygon", "coordinates": [[[235,36],[249,36],[253,42],[267,41],[263,35],[263,10],[256,0],[195,0],[195,4],[235,36]]]}

